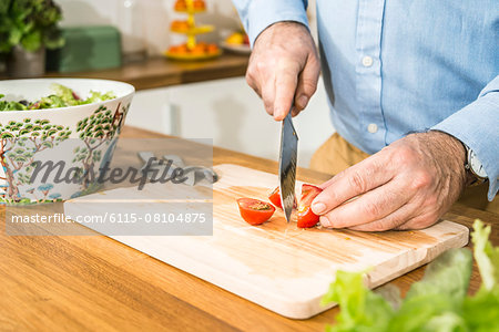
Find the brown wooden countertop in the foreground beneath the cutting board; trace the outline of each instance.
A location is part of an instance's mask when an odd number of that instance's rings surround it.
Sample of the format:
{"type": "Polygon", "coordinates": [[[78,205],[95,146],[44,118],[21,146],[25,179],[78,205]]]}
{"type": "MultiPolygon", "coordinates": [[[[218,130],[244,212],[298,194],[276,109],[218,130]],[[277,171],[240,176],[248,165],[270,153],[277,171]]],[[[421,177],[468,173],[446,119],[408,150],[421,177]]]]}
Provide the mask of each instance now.
{"type": "MultiPolygon", "coordinates": [[[[122,137],[164,136],[125,127],[122,137]]],[[[277,170],[276,162],[213,152],[214,164],[277,170]]],[[[299,168],[298,178],[327,176],[299,168]]],[[[468,227],[476,218],[492,224],[491,240],[499,245],[498,215],[456,205],[445,218],[468,227]]],[[[405,294],[422,272],[424,267],[391,283],[405,294]]],[[[475,292],[480,283],[476,264],[471,278],[475,292]]],[[[1,331],[324,331],[338,311],[289,320],[104,236],[11,237],[2,231],[0,294],[1,331]]]]}

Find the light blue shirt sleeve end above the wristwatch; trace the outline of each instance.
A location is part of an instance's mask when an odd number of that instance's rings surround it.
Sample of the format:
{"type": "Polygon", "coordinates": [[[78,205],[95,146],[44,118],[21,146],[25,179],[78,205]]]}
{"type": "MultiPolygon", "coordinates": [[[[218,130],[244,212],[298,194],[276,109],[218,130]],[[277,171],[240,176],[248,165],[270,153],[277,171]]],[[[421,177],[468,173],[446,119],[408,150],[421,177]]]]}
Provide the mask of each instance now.
{"type": "Polygon", "coordinates": [[[499,177],[499,75],[487,84],[475,102],[432,129],[452,135],[477,154],[489,178],[488,198],[492,200],[499,177]]]}

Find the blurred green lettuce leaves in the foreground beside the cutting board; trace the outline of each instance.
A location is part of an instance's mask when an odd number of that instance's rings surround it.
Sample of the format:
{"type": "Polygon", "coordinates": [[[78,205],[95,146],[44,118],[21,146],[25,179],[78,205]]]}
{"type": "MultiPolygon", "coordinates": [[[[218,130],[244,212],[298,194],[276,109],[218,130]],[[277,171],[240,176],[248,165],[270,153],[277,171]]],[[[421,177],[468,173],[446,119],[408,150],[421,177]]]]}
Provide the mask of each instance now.
{"type": "Polygon", "coordinates": [[[340,308],[327,331],[499,332],[499,248],[488,240],[490,227],[477,220],[473,229],[473,253],[483,280],[475,295],[467,295],[472,256],[466,248],[450,249],[429,263],[403,301],[369,290],[363,272],[338,271],[322,301],[340,308]]]}

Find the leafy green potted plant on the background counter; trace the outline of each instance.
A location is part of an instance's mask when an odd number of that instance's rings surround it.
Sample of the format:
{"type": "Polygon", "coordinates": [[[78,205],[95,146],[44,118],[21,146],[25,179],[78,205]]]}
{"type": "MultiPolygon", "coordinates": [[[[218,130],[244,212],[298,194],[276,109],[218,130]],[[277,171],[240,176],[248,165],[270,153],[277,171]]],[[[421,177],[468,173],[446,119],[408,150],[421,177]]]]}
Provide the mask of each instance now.
{"type": "Polygon", "coordinates": [[[12,77],[40,76],[45,70],[45,49],[64,40],[58,23],[60,7],[52,0],[0,1],[0,58],[12,77]]]}

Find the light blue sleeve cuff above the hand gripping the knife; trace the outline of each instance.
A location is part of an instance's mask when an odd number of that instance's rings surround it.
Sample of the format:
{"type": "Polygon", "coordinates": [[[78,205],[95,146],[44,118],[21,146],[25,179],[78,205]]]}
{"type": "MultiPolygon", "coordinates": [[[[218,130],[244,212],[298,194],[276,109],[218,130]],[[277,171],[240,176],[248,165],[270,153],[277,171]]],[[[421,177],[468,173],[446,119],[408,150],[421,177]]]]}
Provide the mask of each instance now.
{"type": "Polygon", "coordinates": [[[308,28],[307,0],[233,0],[253,48],[258,34],[282,21],[295,21],[308,28]]]}

